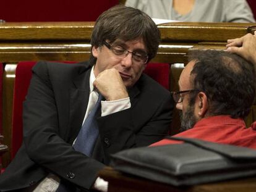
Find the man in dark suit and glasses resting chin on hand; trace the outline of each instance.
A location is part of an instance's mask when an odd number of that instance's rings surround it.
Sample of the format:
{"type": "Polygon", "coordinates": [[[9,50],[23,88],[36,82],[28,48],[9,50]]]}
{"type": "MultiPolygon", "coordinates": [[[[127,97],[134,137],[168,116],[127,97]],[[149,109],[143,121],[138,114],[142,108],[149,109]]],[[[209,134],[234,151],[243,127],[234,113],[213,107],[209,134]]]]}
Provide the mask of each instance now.
{"type": "MultiPolygon", "coordinates": [[[[155,57],[160,32],[140,10],[117,6],[100,15],[90,62],[38,62],[23,104],[23,144],[0,176],[0,190],[101,188],[98,170],[122,149],[147,146],[168,133],[173,101],[142,74],[155,57]],[[92,154],[73,148],[98,95],[98,137],[92,154]]],[[[105,186],[105,185],[103,185],[105,186]]]]}

